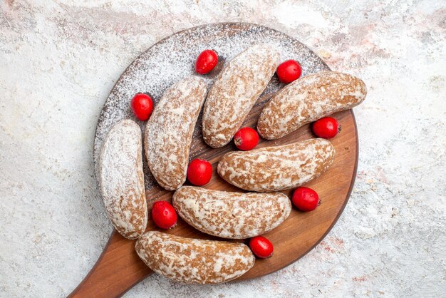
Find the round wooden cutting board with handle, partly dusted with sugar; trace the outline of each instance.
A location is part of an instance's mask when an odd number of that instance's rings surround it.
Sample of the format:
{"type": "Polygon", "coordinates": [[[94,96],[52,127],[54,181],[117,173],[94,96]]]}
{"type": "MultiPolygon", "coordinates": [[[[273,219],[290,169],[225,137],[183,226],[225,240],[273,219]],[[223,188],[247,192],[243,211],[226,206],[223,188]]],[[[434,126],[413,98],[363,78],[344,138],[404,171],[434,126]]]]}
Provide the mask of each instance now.
{"type": "MultiPolygon", "coordinates": [[[[103,138],[115,123],[125,118],[135,120],[130,111],[130,99],[137,92],[148,93],[156,102],[165,88],[180,78],[193,74],[197,55],[205,48],[213,48],[219,53],[219,64],[205,78],[212,80],[221,71],[224,61],[232,58],[244,48],[255,43],[272,43],[282,52],[282,60],[294,58],[301,62],[303,75],[329,70],[328,66],[304,44],[294,38],[264,26],[244,23],[209,24],[173,34],[149,48],[130,64],[113,87],[98,120],[95,135],[95,165],[98,170],[98,155],[103,138]]],[[[348,70],[345,70],[348,72],[348,70]]],[[[264,103],[272,93],[283,88],[274,77],[266,91],[252,109],[244,126],[255,128],[256,120],[264,103]]],[[[256,260],[254,267],[237,280],[252,279],[275,272],[296,262],[313,249],[331,230],[341,215],[350,196],[356,176],[358,163],[358,135],[352,111],[334,115],[342,130],[331,142],[336,148],[336,159],[331,168],[316,180],[307,183],[321,197],[321,205],[313,212],[300,212],[294,208],[290,217],[279,227],[265,236],[274,244],[274,256],[266,260],[256,260]]],[[[137,120],[141,128],[145,123],[137,120]]],[[[219,178],[216,172],[219,158],[232,150],[233,143],[223,148],[212,149],[201,136],[201,115],[195,128],[190,159],[204,158],[212,163],[214,173],[205,188],[213,190],[242,191],[219,178]]],[[[279,140],[260,140],[257,148],[294,143],[299,140],[315,138],[311,126],[296,130],[279,140]]],[[[172,192],[159,187],[145,166],[145,187],[149,210],[156,200],[171,200],[172,192]]],[[[187,185],[188,183],[186,183],[187,185]]],[[[291,197],[291,191],[284,191],[291,197]]],[[[100,200],[100,197],[98,197],[100,200]]],[[[150,214],[150,212],[149,212],[150,214]]],[[[149,218],[147,230],[158,230],[149,218]]],[[[177,227],[162,230],[170,234],[202,239],[217,239],[195,230],[179,219],[177,227]]],[[[71,293],[70,297],[119,297],[152,271],[139,259],[134,250],[135,240],[127,240],[113,231],[110,240],[99,260],[83,282],[71,293]]]]}

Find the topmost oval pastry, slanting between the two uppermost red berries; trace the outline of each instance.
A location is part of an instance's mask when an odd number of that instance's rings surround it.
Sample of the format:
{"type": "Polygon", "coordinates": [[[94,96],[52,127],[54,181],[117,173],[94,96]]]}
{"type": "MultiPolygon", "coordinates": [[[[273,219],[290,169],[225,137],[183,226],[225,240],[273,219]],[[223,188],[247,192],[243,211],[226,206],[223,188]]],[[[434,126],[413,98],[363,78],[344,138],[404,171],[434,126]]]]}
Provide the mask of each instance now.
{"type": "Polygon", "coordinates": [[[209,90],[203,109],[203,138],[219,148],[232,139],[279,65],[271,45],[247,48],[227,63],[209,90]]]}

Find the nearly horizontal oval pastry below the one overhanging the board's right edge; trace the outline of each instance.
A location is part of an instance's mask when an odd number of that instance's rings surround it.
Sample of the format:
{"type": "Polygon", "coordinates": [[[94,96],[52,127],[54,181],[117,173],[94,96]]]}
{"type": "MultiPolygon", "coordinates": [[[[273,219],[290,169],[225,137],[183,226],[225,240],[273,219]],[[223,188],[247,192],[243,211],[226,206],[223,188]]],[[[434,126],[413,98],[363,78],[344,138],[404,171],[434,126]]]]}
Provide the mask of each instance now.
{"type": "Polygon", "coordinates": [[[217,165],[224,180],[244,190],[269,192],[302,185],[325,172],[336,152],[329,140],[227,153],[217,165]]]}

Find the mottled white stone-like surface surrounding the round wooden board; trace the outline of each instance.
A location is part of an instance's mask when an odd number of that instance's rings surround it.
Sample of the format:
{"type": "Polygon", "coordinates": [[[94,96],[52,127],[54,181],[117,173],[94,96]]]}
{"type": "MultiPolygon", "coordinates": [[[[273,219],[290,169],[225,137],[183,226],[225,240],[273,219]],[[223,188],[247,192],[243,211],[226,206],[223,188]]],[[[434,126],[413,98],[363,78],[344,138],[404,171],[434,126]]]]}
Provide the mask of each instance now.
{"type": "Polygon", "coordinates": [[[444,297],[446,2],[1,1],[0,297],[63,297],[112,227],[93,134],[113,83],[180,29],[247,21],[363,78],[356,185],[338,224],[286,269],[212,287],[152,275],[126,297],[444,297]]]}

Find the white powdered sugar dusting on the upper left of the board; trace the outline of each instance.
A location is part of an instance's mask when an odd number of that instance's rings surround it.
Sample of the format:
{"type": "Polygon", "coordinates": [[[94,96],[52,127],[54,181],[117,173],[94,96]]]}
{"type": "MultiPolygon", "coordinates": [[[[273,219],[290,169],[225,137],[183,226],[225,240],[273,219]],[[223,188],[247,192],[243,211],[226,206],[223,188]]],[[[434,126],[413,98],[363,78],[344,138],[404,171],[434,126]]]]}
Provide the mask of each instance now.
{"type": "MultiPolygon", "coordinates": [[[[226,61],[231,60],[244,49],[259,43],[268,43],[279,49],[281,59],[296,59],[301,62],[302,75],[329,70],[328,66],[313,51],[294,38],[274,29],[254,24],[212,24],[187,29],[173,34],[156,43],[142,53],[128,66],[113,87],[100,113],[95,135],[95,173],[98,177],[98,158],[100,148],[108,131],[120,120],[135,120],[144,131],[145,123],[135,119],[130,111],[130,100],[135,93],[149,94],[155,104],[162,93],[172,83],[195,74],[195,59],[205,49],[214,49],[219,56],[219,64],[211,73],[202,76],[211,86],[214,78],[222,70],[226,61]]],[[[268,98],[284,85],[274,76],[260,98],[268,98]]],[[[258,101],[257,104],[264,104],[258,101]]],[[[206,150],[213,150],[204,145],[201,137],[201,115],[197,120],[194,140],[190,149],[190,159],[206,150]]],[[[228,146],[228,145],[227,145],[228,146]]],[[[144,160],[145,188],[157,185],[147,169],[144,160]]]]}

